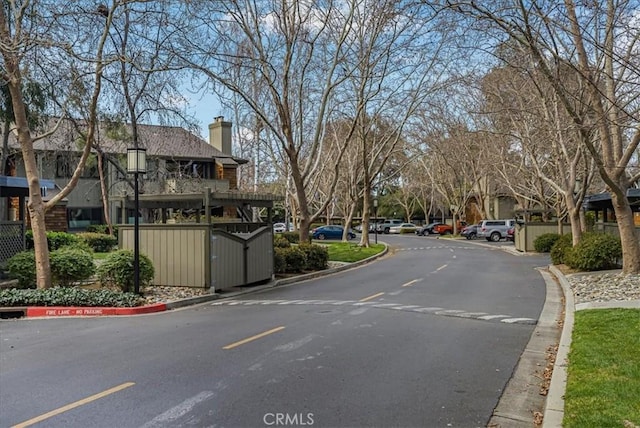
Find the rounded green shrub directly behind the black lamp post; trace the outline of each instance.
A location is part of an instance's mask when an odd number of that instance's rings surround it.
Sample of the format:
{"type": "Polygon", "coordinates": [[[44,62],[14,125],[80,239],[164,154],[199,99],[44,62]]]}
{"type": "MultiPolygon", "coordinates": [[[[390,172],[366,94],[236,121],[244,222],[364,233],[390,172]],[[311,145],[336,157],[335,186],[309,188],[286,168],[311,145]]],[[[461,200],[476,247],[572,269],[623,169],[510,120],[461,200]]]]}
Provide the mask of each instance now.
{"type": "MultiPolygon", "coordinates": [[[[103,285],[116,285],[124,292],[133,291],[133,251],[118,250],[109,254],[98,267],[97,273],[103,285]]],[[[154,275],[153,263],[140,254],[140,286],[149,285],[154,275]]]]}

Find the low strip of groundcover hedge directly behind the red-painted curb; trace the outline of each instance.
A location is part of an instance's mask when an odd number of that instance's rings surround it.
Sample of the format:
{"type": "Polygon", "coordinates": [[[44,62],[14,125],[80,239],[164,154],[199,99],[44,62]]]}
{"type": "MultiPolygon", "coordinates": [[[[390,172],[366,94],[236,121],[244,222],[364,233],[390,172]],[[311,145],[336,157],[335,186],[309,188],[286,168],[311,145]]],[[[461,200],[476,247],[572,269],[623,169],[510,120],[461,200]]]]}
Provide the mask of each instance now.
{"type": "Polygon", "coordinates": [[[142,303],[140,296],[112,290],[53,287],[46,290],[0,290],[0,306],[111,306],[130,308],[142,303]]]}

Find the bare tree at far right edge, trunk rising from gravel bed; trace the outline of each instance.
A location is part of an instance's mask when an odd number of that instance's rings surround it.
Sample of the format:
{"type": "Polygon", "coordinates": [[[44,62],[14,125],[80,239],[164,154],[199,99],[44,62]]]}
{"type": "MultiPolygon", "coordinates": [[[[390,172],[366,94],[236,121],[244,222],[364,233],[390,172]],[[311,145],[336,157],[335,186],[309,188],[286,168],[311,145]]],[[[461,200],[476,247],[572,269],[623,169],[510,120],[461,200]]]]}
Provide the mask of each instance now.
{"type": "Polygon", "coordinates": [[[611,192],[623,248],[623,271],[640,272],[640,239],[627,190],[637,179],[630,161],[640,144],[637,94],[636,5],[630,1],[594,1],[588,5],[564,0],[448,2],[490,38],[508,35],[519,43],[553,88],[573,121],[580,143],[595,160],[611,192]],[[476,25],[477,24],[477,25],[476,25]],[[576,109],[573,88],[567,88],[557,64],[575,70],[587,94],[588,108],[576,109]],[[589,125],[596,123],[596,128],[589,125]]]}

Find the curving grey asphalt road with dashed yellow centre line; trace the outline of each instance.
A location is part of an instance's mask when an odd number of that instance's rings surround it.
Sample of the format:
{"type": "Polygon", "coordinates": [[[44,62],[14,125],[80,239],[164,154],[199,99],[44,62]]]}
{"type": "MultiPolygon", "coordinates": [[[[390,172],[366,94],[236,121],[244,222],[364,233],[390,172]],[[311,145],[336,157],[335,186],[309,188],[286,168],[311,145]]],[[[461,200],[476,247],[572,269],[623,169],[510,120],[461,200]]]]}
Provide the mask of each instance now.
{"type": "Polygon", "coordinates": [[[242,299],[1,321],[0,426],[486,426],[548,260],[384,240],[375,263],[242,299]]]}

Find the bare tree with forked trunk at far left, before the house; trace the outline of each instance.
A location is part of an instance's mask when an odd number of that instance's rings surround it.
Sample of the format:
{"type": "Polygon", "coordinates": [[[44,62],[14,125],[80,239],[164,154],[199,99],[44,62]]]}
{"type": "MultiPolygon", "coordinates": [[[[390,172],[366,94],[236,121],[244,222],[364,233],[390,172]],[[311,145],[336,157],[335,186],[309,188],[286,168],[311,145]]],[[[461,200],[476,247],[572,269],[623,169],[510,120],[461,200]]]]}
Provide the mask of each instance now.
{"type": "MultiPolygon", "coordinates": [[[[114,9],[117,3],[113,1],[108,10],[114,9]]],[[[110,25],[111,21],[107,18],[105,22],[92,2],[67,4],[62,13],[57,1],[7,1],[0,7],[0,55],[4,60],[2,79],[11,94],[15,132],[29,183],[28,208],[38,288],[51,286],[45,212],[75,187],[95,137],[97,104],[105,65],[103,49],[110,25]],[[40,194],[34,142],[55,132],[55,127],[41,135],[36,135],[30,127],[24,93],[25,84],[30,81],[38,81],[46,87],[48,93],[63,106],[71,106],[78,101],[73,98],[75,88],[85,84],[90,87],[84,100],[88,131],[80,162],[69,183],[47,202],[40,194]]]]}

